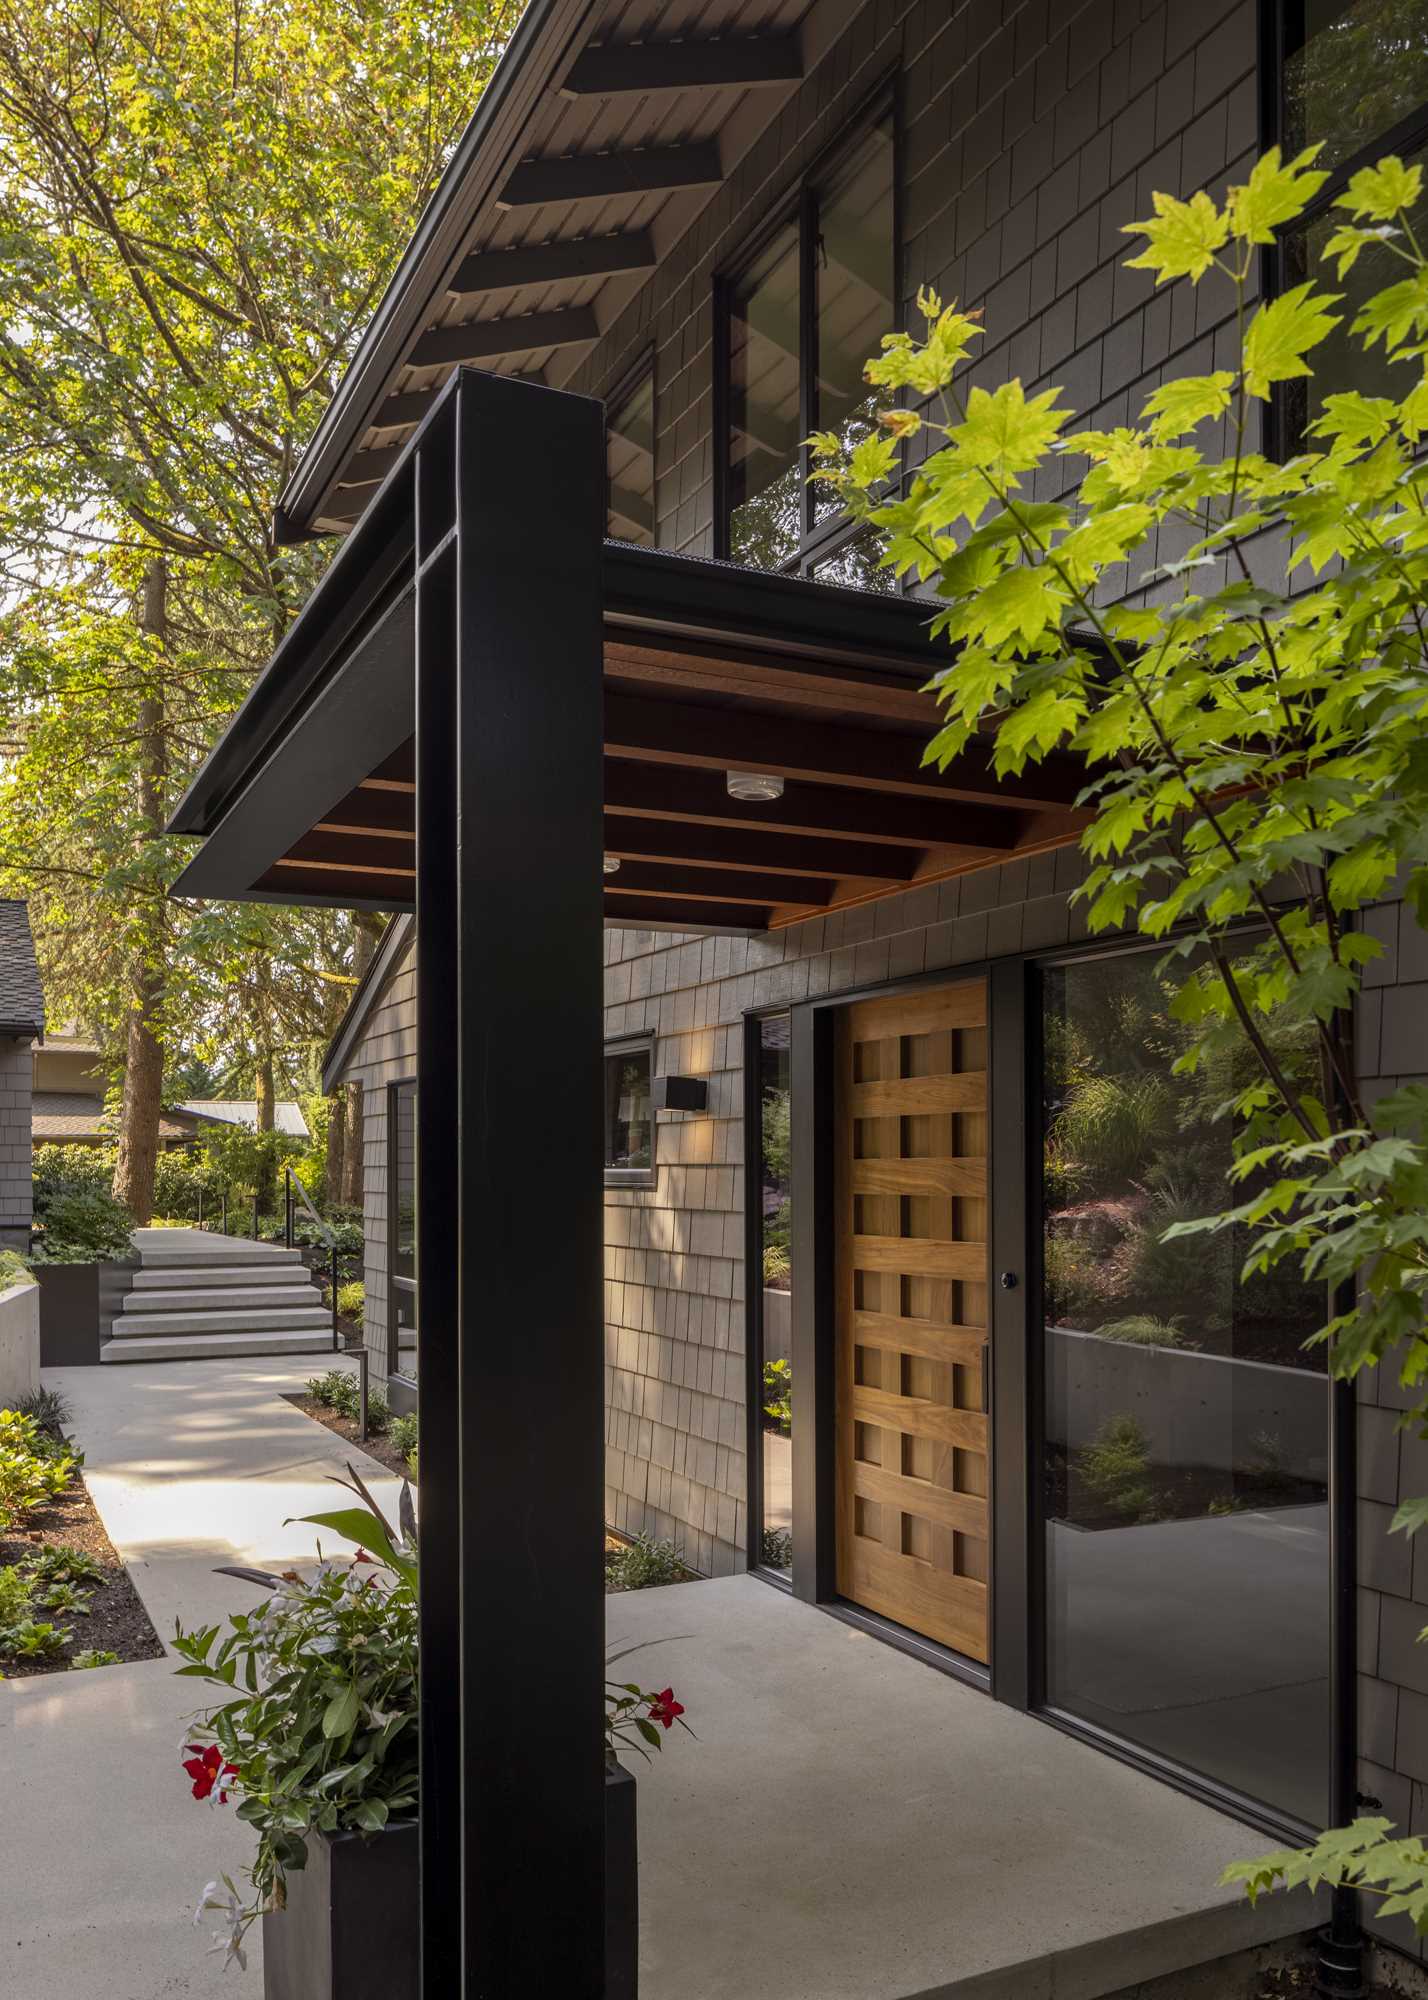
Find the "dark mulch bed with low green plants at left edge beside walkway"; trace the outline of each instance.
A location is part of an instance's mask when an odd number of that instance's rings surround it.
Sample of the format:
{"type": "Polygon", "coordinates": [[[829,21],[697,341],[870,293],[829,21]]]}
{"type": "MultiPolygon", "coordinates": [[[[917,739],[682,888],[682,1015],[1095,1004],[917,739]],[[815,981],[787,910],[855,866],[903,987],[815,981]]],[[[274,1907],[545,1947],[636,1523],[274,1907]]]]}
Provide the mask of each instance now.
{"type": "Polygon", "coordinates": [[[24,1680],[68,1674],[76,1666],[162,1658],[144,1602],[74,1468],[62,1492],[0,1530],[0,1676],[24,1680]],[[24,1584],[6,1582],[16,1576],[24,1584]],[[30,1602],[24,1616],[10,1622],[20,1610],[14,1602],[20,1592],[30,1602]],[[46,1604],[46,1596],[56,1602],[46,1604]],[[40,1626],[48,1632],[36,1638],[40,1626]],[[30,1654],[22,1650],[26,1644],[44,1650],[30,1654]]]}

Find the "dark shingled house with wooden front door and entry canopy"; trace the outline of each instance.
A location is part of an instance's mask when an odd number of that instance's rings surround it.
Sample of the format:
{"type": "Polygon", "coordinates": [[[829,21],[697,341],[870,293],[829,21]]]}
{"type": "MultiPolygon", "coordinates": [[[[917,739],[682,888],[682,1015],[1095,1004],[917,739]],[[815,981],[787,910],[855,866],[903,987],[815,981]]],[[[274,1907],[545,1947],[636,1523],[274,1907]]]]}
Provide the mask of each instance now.
{"type": "MultiPolygon", "coordinates": [[[[1290,1838],[1324,1824],[1332,1696],[1346,1714],[1330,1394],[1300,1348],[1322,1302],[1240,1294],[1206,1250],[1156,1256],[1228,1154],[1168,1082],[1154,954],[1086,940],[1056,760],[1002,784],[976,758],[920,770],[946,656],[806,486],[800,440],[866,426],[860,364],[920,286],[984,310],[972,382],[1060,384],[1094,426],[1210,368],[1228,294],[1156,294],[1122,230],[1152,190],[1324,140],[1336,178],[1292,266],[1388,128],[1404,152],[1428,138],[1428,90],[1372,10],[1338,12],[1364,16],[1382,92],[1362,102],[1390,106],[1344,132],[1312,88],[1328,44],[1250,0],[788,0],[738,38],[714,4],[666,42],[624,0],[536,0],[284,494],[284,534],[356,528],[386,594],[336,558],[174,822],[210,836],[180,894],[410,912],[438,766],[392,582],[402,450],[458,364],[602,398],[606,1518],[1290,1838]],[[370,598],[334,610],[342,588],[370,598]]],[[[1360,1050],[1388,1088],[1428,1072],[1428,940],[1398,898],[1370,924],[1360,1050]]],[[[398,918],[324,1070],[364,1084],[368,1336],[398,1386],[428,942],[398,918]]],[[[544,964],[558,980],[558,940],[544,964]]],[[[1408,1828],[1424,1574],[1384,1530],[1428,1490],[1428,1446],[1402,1402],[1364,1376],[1358,1746],[1364,1794],[1408,1828]]]]}

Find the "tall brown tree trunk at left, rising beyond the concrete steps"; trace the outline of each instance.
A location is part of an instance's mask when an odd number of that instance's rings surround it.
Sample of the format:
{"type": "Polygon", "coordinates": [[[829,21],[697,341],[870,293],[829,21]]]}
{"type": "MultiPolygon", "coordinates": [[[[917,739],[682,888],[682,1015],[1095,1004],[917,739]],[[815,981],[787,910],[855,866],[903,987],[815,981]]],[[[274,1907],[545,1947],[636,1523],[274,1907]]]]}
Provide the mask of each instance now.
{"type": "MultiPolygon", "coordinates": [[[[162,652],[168,642],[168,566],[150,562],[144,572],[144,602],[138,614],[140,630],[156,640],[162,652]]],[[[162,688],[162,678],[158,682],[162,688]]],[[[168,746],[164,740],[162,692],[144,694],[138,704],[138,816],[140,834],[158,840],[164,832],[164,780],[168,776],[168,746]]],[[[124,1202],[138,1226],[154,1214],[154,1166],[158,1162],[158,1124],[164,1110],[164,1044],[160,1014],[164,1006],[164,900],[154,884],[152,910],[142,922],[144,942],[130,966],[130,1012],[124,1036],[124,1096],[120,1104],[118,1158],[114,1160],[114,1196],[124,1202]]]]}

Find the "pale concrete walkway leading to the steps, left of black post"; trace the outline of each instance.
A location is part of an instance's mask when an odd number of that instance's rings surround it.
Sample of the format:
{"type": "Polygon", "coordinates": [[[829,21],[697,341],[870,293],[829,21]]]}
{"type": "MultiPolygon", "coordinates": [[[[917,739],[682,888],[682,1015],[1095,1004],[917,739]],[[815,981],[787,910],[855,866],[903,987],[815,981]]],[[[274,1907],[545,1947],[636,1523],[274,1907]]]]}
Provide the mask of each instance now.
{"type": "MultiPolygon", "coordinates": [[[[94,1504],[164,1642],[176,1618],[214,1624],[260,1596],[214,1564],[312,1556],[314,1530],[284,1518],[338,1504],[326,1476],[344,1460],[396,1502],[382,1466],[282,1400],[326,1366],[274,1356],[44,1372],[74,1406],[94,1504]]],[[[260,2000],[258,1932],[240,1976],[190,1924],[204,1882],[236,1874],[252,1834],[232,1808],[188,1794],[180,1742],[204,1690],[172,1664],[0,1682],[0,2000],[260,2000]]]]}

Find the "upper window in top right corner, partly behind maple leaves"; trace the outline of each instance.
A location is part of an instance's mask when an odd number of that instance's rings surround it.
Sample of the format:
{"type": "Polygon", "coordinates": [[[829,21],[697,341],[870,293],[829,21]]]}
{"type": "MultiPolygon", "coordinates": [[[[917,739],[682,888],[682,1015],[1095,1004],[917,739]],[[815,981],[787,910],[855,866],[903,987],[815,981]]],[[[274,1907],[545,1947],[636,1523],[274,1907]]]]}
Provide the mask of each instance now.
{"type": "MultiPolygon", "coordinates": [[[[1318,166],[1332,178],[1282,238],[1280,288],[1314,278],[1342,294],[1340,324],[1314,350],[1314,378],[1282,388],[1284,442],[1296,448],[1324,396],[1350,388],[1402,394],[1402,370],[1394,372],[1382,346],[1366,350],[1350,336],[1364,300],[1404,274],[1400,260],[1386,248],[1364,250],[1338,278],[1322,254],[1342,222],[1334,196],[1360,166],[1390,152],[1406,164],[1428,160],[1428,0],[1286,0],[1282,24],[1280,144],[1286,156],[1318,144],[1318,166]]],[[[1414,230],[1426,218],[1428,198],[1414,230]]]]}

